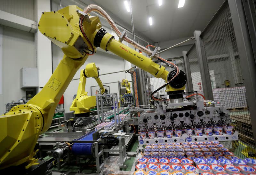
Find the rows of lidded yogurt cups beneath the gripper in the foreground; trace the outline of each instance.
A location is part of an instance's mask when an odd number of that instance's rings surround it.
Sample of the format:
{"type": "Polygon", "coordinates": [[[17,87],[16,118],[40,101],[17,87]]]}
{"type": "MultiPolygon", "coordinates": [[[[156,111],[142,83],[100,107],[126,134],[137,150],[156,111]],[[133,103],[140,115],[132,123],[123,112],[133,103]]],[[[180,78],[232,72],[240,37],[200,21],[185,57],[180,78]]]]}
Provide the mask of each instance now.
{"type": "Polygon", "coordinates": [[[256,174],[256,159],[234,156],[219,141],[146,145],[134,174],[256,174]]]}

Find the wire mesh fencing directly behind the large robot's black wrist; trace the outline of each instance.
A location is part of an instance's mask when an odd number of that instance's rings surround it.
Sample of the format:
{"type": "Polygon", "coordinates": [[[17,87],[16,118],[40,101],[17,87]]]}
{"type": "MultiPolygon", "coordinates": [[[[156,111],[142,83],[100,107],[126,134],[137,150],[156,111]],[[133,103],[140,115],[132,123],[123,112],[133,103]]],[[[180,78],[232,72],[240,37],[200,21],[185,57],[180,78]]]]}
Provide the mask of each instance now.
{"type": "MultiPolygon", "coordinates": [[[[178,68],[180,70],[185,72],[183,57],[168,58],[166,60],[174,63],[175,65],[178,66],[178,68]]],[[[160,62],[160,61],[155,61],[155,62],[161,66],[164,66],[164,68],[168,72],[172,71],[172,68],[165,65],[163,62],[160,62]]],[[[160,86],[162,86],[163,84],[165,84],[165,81],[163,79],[154,77],[152,74],[150,74],[146,71],[143,71],[143,75],[144,75],[144,82],[145,82],[146,104],[149,104],[149,100],[151,100],[151,93],[154,90],[156,90],[157,88],[159,88],[160,86]]],[[[162,88],[161,90],[156,92],[156,94],[154,96],[156,96],[156,97],[161,96],[163,98],[169,98],[169,96],[167,96],[167,93],[165,92],[165,90],[166,90],[166,87],[162,88]]]]}

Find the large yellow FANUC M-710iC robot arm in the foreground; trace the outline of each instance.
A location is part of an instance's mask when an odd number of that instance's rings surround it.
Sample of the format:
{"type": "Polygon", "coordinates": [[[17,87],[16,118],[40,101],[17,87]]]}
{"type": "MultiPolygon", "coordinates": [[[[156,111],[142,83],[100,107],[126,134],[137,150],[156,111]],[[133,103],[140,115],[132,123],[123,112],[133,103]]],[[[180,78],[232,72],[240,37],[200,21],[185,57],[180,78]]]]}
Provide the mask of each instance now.
{"type": "MultiPolygon", "coordinates": [[[[25,163],[25,168],[38,164],[34,156],[37,151],[36,142],[39,134],[49,129],[61,96],[76,71],[84,65],[89,55],[95,53],[97,47],[113,52],[156,78],[164,79],[167,84],[167,93],[174,92],[176,95],[177,92],[185,89],[184,72],[178,73],[177,69],[176,73],[175,71],[169,73],[164,66],[156,64],[151,58],[122,44],[123,37],[119,31],[118,36],[121,40],[114,39],[113,35],[102,28],[99,17],[89,15],[92,10],[100,11],[113,25],[108,14],[96,5],[87,6],[85,12],[82,12],[82,9],[76,5],[67,6],[59,11],[43,12],[38,29],[62,49],[64,57],[44,88],[36,96],[27,104],[15,106],[0,117],[1,169],[23,163],[25,163]]],[[[124,38],[132,41],[126,36],[124,38]]],[[[157,54],[152,55],[156,57],[157,54]]]]}

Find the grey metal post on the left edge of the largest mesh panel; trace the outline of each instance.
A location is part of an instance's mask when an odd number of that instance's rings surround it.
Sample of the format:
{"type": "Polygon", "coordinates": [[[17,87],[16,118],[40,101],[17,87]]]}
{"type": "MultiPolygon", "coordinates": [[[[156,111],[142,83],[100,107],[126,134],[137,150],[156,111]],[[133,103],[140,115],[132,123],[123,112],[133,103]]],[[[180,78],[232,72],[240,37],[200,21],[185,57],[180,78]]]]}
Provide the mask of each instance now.
{"type": "Polygon", "coordinates": [[[213,100],[211,79],[207,65],[207,58],[204,52],[203,41],[200,37],[201,31],[196,30],[194,36],[196,37],[196,52],[198,56],[198,63],[201,72],[201,79],[203,84],[204,96],[206,100],[213,100]]]}

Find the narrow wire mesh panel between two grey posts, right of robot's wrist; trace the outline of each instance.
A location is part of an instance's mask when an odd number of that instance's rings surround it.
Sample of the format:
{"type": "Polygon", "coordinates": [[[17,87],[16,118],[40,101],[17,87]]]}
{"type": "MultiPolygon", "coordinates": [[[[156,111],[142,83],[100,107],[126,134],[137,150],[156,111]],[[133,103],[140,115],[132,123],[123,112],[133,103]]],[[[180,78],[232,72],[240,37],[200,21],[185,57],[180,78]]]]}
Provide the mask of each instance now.
{"type": "MultiPolygon", "coordinates": [[[[204,95],[201,72],[199,68],[198,56],[196,53],[196,44],[194,43],[187,52],[189,68],[191,72],[191,79],[193,90],[204,95]]],[[[203,100],[203,97],[199,96],[198,100],[203,100]]]]}

